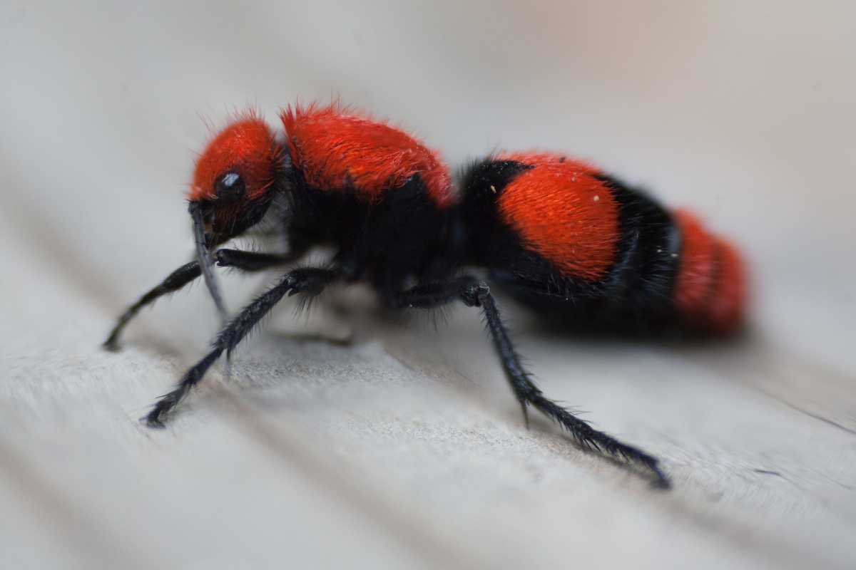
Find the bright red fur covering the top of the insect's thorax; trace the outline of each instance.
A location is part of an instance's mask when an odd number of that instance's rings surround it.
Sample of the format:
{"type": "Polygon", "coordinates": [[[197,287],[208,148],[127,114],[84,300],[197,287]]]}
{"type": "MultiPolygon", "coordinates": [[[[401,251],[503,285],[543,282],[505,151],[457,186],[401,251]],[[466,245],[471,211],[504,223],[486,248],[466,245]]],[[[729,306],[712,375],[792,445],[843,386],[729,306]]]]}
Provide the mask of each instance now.
{"type": "Polygon", "coordinates": [[[353,186],[358,195],[377,201],[384,191],[419,174],[437,205],[454,202],[449,169],[436,152],[406,132],[336,104],[289,106],[280,118],[294,166],[312,186],[353,186]]]}

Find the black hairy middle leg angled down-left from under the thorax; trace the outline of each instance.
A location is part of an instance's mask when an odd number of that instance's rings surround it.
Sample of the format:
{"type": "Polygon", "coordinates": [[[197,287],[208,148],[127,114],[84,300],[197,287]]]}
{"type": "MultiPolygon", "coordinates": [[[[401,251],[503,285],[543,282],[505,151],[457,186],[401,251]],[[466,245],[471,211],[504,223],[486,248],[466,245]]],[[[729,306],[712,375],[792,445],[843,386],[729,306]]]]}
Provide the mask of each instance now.
{"type": "Polygon", "coordinates": [[[150,427],[163,427],[163,421],[169,412],[187,396],[187,392],[199,383],[208,368],[226,351],[227,357],[235,350],[241,339],[253,330],[265,314],[279,303],[283,296],[303,293],[309,296],[318,295],[324,287],[340,277],[336,269],[321,267],[302,267],[286,273],[282,280],[269,291],[257,297],[253,303],[245,307],[240,314],[229,321],[211,344],[211,352],[197,362],[181,377],[175,390],[164,395],[155,404],[152,411],[146,415],[146,423],[150,427]]]}

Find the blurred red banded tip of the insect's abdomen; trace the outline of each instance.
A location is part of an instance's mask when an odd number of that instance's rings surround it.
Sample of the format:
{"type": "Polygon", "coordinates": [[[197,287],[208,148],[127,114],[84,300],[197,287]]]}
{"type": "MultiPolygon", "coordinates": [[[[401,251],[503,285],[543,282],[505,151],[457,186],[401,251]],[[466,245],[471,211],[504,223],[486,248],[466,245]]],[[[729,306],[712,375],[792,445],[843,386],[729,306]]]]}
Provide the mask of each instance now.
{"type": "Polygon", "coordinates": [[[746,269],[740,253],[686,210],[675,212],[675,223],[682,238],[676,309],[690,326],[710,332],[734,330],[746,309],[746,269]]]}

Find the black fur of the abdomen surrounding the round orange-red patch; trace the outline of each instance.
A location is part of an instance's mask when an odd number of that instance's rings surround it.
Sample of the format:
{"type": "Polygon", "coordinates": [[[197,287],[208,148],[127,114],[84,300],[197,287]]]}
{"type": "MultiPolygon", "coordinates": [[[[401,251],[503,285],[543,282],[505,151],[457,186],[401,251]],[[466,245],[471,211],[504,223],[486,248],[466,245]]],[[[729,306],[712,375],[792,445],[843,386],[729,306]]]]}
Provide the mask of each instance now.
{"type": "Polygon", "coordinates": [[[681,240],[671,216],[644,192],[599,176],[619,204],[621,237],[615,263],[603,279],[562,273],[526,248],[499,216],[496,199],[522,163],[479,162],[463,177],[461,209],[467,227],[467,261],[487,267],[490,278],[544,319],[592,332],[662,332],[680,326],[672,303],[681,240]]]}

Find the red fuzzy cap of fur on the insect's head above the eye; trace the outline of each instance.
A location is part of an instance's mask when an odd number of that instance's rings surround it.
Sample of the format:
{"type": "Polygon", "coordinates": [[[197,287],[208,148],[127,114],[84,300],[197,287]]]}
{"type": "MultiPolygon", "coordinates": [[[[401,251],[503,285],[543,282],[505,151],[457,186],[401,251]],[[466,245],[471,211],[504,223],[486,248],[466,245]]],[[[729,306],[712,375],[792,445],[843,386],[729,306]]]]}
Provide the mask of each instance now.
{"type": "Polygon", "coordinates": [[[247,198],[262,196],[273,183],[278,160],[273,134],[264,120],[249,113],[220,131],[196,161],[191,201],[212,200],[217,179],[231,170],[241,174],[247,198]]]}

